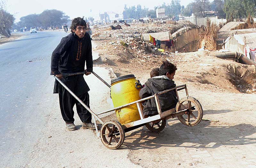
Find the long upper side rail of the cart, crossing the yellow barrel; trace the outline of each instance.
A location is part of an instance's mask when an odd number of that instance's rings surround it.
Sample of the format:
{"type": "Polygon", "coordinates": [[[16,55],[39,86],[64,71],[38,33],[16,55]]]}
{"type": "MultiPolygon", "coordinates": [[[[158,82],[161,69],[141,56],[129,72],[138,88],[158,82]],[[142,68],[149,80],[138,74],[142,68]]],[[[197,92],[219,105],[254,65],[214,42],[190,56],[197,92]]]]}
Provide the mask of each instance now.
{"type": "Polygon", "coordinates": [[[156,93],[156,94],[154,94],[154,95],[152,95],[152,96],[149,96],[149,97],[146,97],[146,98],[143,98],[143,99],[140,99],[140,100],[137,100],[137,101],[134,101],[134,102],[125,104],[125,105],[123,105],[123,106],[119,106],[119,107],[113,108],[113,109],[111,109],[111,110],[108,110],[108,111],[106,111],[106,112],[99,113],[99,114],[97,114],[97,115],[104,114],[104,113],[108,113],[108,112],[112,112],[112,111],[114,111],[114,110],[118,110],[118,109],[120,109],[120,108],[123,108],[123,107],[126,107],[126,106],[130,106],[130,105],[132,105],[132,104],[139,103],[139,102],[142,102],[142,101],[145,101],[145,100],[154,98],[155,96],[160,95],[160,94],[164,94],[164,93],[166,93],[166,92],[168,92],[168,91],[172,91],[172,90],[174,90],[174,89],[177,89],[177,90],[178,90],[178,88],[179,88],[179,90],[187,89],[187,85],[186,85],[186,84],[183,84],[183,85],[174,87],[174,88],[172,88],[172,89],[168,89],[168,90],[165,90],[165,91],[161,91],[161,92],[158,92],[158,93],[156,93]]]}

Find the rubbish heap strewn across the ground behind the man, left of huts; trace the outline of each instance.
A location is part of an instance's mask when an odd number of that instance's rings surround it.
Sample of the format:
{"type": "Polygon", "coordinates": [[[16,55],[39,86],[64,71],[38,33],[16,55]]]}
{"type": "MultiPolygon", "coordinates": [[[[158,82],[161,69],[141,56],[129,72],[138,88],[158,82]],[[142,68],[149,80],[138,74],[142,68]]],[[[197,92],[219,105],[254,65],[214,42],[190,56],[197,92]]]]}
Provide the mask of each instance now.
{"type": "Polygon", "coordinates": [[[140,61],[148,61],[151,58],[159,56],[172,56],[173,53],[159,51],[156,46],[149,41],[141,39],[141,33],[157,33],[170,31],[174,33],[185,26],[195,26],[188,21],[154,21],[154,23],[129,23],[131,26],[124,24],[94,25],[93,33],[100,33],[101,44],[97,50],[101,50],[103,55],[120,56],[121,53],[127,52],[132,54],[133,58],[140,61]],[[120,25],[122,29],[112,30],[110,26],[120,25]]]}

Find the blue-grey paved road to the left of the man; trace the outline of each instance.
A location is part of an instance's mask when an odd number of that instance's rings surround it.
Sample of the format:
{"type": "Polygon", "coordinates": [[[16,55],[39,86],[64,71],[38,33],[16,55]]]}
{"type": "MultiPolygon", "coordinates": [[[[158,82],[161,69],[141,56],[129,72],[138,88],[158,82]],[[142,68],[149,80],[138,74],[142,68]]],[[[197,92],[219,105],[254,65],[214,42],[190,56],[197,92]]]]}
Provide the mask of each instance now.
{"type": "Polygon", "coordinates": [[[56,104],[51,101],[51,54],[67,34],[24,32],[0,45],[0,167],[20,167],[40,137],[45,110],[56,104]]]}

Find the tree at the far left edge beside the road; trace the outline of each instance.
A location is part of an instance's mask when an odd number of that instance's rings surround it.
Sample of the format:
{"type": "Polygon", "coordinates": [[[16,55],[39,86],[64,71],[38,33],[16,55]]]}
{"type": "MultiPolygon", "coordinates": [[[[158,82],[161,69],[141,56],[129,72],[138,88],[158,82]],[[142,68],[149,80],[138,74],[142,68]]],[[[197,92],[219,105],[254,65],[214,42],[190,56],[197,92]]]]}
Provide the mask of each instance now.
{"type": "Polygon", "coordinates": [[[14,23],[14,16],[7,12],[6,10],[6,2],[4,0],[0,1],[0,34],[5,37],[11,36],[11,27],[14,23]]]}

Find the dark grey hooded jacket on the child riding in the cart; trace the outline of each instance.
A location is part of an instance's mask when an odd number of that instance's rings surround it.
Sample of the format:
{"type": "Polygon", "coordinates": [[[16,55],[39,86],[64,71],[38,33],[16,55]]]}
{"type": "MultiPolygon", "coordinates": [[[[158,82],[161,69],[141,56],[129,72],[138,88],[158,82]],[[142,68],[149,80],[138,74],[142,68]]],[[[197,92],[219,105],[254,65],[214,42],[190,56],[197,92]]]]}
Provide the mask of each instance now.
{"type": "MultiPolygon", "coordinates": [[[[148,79],[145,86],[140,90],[140,98],[143,99],[174,87],[176,87],[174,81],[166,76],[152,77],[148,79]]],[[[175,108],[178,102],[175,90],[161,94],[158,98],[162,112],[175,108]]],[[[158,114],[155,98],[148,99],[142,105],[144,115],[158,114]]]]}

